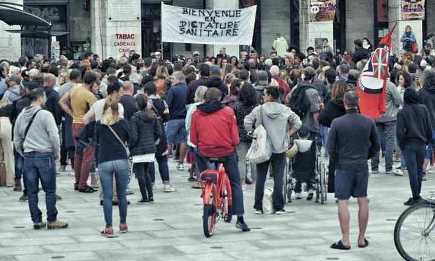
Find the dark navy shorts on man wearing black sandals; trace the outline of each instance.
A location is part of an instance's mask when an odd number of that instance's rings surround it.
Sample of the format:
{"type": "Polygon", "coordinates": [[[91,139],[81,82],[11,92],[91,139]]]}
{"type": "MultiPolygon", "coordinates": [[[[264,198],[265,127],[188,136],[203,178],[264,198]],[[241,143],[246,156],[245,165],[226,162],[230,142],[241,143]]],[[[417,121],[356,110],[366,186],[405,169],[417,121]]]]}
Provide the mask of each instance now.
{"type": "Polygon", "coordinates": [[[352,197],[367,197],[368,171],[335,170],[335,197],[348,200],[352,197]]]}

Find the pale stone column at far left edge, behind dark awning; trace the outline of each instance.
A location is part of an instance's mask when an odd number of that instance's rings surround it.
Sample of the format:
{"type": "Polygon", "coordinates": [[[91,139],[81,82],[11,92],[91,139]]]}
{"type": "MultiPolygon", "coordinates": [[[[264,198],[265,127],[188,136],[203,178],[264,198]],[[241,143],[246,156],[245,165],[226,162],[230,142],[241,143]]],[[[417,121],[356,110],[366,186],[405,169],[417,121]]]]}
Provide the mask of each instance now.
{"type": "MultiPolygon", "coordinates": [[[[9,0],[7,2],[23,4],[23,0],[9,0]]],[[[18,8],[23,9],[22,7],[18,8]]],[[[21,35],[20,33],[9,33],[5,30],[20,30],[20,26],[9,26],[7,23],[0,21],[0,57],[6,60],[18,61],[21,56],[21,35]]]]}

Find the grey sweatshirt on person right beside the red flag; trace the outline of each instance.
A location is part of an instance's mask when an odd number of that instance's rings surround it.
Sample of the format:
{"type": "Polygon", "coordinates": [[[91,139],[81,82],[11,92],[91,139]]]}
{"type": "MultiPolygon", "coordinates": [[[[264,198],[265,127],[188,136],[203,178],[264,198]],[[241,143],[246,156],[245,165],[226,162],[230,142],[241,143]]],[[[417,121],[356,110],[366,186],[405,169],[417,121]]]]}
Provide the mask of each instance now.
{"type": "Polygon", "coordinates": [[[387,81],[387,93],[385,94],[387,99],[385,107],[387,111],[382,114],[375,122],[388,122],[397,120],[397,113],[400,107],[403,105],[403,98],[400,91],[397,89],[395,84],[391,81],[387,81]]]}

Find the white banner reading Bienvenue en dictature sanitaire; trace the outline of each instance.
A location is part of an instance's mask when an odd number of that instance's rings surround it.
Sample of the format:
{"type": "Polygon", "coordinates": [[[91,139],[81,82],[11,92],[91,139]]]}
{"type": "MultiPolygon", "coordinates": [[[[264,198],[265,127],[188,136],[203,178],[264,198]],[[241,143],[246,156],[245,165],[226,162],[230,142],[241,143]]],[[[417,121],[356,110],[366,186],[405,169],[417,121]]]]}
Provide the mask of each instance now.
{"type": "Polygon", "coordinates": [[[174,7],[162,3],[162,41],[251,45],[257,6],[232,10],[174,7]]]}

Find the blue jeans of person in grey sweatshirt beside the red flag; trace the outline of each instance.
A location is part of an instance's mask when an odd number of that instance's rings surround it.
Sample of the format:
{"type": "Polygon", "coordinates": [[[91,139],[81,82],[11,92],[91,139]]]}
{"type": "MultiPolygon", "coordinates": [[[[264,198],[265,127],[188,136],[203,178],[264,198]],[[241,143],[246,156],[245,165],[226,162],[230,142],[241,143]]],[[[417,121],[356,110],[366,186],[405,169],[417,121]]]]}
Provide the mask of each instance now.
{"type": "MultiPolygon", "coordinates": [[[[385,137],[385,171],[393,169],[393,149],[395,147],[396,121],[376,122],[378,136],[385,137]]],[[[371,158],[371,170],[377,171],[379,168],[379,151],[371,158]]]]}

